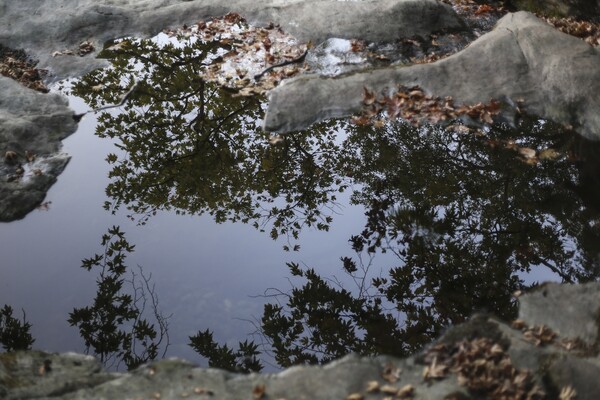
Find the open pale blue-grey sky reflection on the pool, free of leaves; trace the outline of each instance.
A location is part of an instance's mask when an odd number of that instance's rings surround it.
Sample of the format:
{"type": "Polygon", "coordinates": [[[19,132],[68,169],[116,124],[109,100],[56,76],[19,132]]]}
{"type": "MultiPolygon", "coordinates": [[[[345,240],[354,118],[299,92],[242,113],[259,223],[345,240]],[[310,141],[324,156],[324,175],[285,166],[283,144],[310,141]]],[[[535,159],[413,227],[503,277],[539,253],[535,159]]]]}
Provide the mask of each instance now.
{"type": "MultiPolygon", "coordinates": [[[[71,101],[76,111],[87,109],[77,98],[71,101]]],[[[262,312],[263,300],[253,296],[289,287],[286,262],[318,263],[342,275],[339,254],[348,248],[347,232],[361,228],[362,208],[345,206],[330,232],[303,232],[300,253],[283,251],[285,238],[273,241],[246,224],[215,224],[210,216],[161,213],[138,226],[125,212],[113,216],[102,208],[110,169],[104,159],[114,146],[94,136],[94,128],[95,118],[88,116],[64,141],[73,158],[48,193],[49,210],[0,224],[0,303],[11,304],[16,316],[25,309],[35,348],[84,350],[66,320],[73,307],[93,297],[95,275],[79,266],[100,251],[100,237],[112,225],[136,245],[129,262],[152,273],[163,312],[173,314],[168,355],[197,362],[188,336],[210,328],[221,342],[245,340],[255,330],[248,320],[262,312]]]]}

